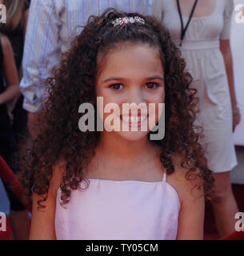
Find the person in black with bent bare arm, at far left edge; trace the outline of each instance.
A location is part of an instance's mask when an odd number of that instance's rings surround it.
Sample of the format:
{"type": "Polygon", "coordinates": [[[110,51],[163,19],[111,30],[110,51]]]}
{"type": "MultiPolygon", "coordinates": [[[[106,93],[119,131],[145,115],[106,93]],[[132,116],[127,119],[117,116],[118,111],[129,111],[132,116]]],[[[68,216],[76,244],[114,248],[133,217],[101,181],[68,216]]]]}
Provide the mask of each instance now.
{"type": "MultiPolygon", "coordinates": [[[[18,72],[14,62],[14,53],[6,36],[0,34],[0,154],[9,166],[12,166],[16,143],[12,130],[6,103],[20,94],[18,72]]],[[[25,239],[27,226],[24,206],[6,186],[6,193],[10,199],[10,223],[14,238],[25,239]]]]}

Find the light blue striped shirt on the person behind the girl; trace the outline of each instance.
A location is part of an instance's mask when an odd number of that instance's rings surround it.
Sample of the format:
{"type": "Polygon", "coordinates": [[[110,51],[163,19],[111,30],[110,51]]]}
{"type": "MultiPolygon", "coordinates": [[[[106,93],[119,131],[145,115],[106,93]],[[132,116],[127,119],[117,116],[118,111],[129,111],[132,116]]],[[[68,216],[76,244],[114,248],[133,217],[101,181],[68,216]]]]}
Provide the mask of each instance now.
{"type": "MultiPolygon", "coordinates": [[[[44,81],[58,65],[61,53],[70,46],[91,14],[102,14],[108,7],[127,12],[152,14],[153,0],[32,0],[26,29],[23,57],[23,108],[42,110],[44,81]]],[[[70,85],[71,86],[71,85],[70,85]]]]}

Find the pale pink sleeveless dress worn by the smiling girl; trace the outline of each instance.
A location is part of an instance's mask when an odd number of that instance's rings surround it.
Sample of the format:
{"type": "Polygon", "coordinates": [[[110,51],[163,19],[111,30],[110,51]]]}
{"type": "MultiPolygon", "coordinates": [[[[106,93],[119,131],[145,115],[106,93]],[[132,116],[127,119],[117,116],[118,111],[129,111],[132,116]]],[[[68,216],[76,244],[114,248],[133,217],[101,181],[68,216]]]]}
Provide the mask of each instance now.
{"type": "MultiPolygon", "coordinates": [[[[55,231],[58,240],[174,240],[180,201],[166,182],[89,179],[87,190],[72,190],[61,206],[58,190],[55,231]]],[[[82,188],[85,188],[82,186],[82,188]]]]}

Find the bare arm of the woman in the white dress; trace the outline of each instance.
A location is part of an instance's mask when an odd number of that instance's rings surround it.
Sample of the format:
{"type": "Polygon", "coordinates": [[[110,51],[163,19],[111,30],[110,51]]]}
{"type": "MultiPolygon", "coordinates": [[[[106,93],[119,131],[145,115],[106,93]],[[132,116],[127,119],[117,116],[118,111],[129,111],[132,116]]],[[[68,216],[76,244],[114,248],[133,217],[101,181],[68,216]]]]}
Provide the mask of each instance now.
{"type": "Polygon", "coordinates": [[[233,71],[233,61],[230,49],[230,40],[220,40],[220,50],[222,52],[226,73],[228,78],[231,106],[233,110],[233,131],[238,123],[241,121],[241,115],[238,112],[238,103],[236,100],[235,90],[234,90],[234,71],[233,71]]]}

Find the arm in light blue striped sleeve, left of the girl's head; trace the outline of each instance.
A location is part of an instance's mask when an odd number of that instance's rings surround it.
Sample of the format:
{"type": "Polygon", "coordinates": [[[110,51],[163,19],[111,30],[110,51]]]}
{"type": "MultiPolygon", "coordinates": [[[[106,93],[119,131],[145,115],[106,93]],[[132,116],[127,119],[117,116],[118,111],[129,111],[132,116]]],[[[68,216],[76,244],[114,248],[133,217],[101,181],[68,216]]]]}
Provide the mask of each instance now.
{"type": "Polygon", "coordinates": [[[23,55],[23,108],[30,113],[42,110],[45,80],[58,64],[60,22],[55,1],[32,0],[23,55]]]}

